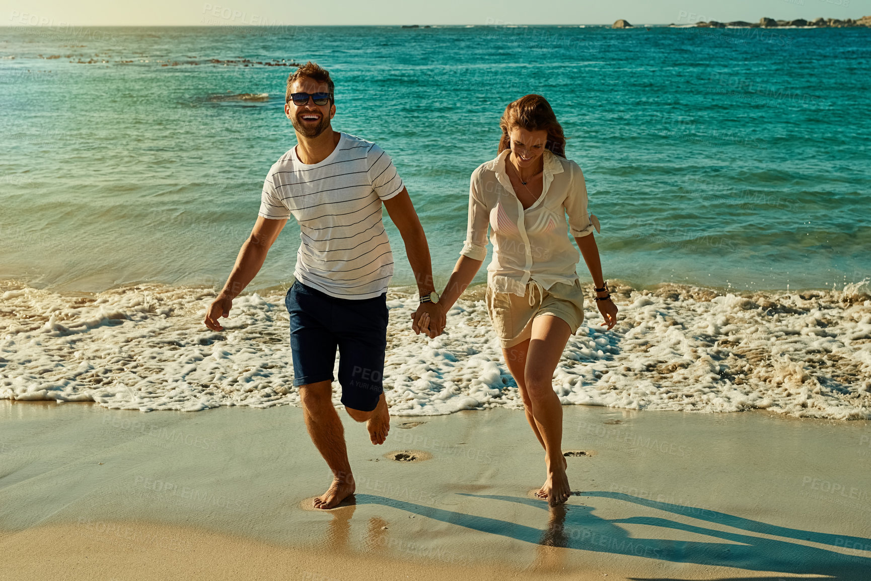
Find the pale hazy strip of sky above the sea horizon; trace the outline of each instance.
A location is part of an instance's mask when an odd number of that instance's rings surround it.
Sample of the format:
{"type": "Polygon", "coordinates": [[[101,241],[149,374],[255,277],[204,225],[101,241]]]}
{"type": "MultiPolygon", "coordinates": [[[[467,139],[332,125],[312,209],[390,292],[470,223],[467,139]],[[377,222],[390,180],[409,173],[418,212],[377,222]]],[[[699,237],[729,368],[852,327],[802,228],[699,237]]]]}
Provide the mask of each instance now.
{"type": "Polygon", "coordinates": [[[631,24],[871,15],[871,0],[0,0],[4,26],[631,24]]]}

